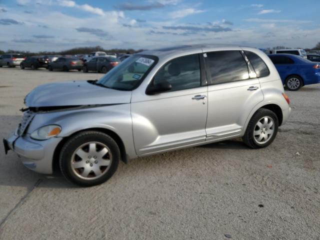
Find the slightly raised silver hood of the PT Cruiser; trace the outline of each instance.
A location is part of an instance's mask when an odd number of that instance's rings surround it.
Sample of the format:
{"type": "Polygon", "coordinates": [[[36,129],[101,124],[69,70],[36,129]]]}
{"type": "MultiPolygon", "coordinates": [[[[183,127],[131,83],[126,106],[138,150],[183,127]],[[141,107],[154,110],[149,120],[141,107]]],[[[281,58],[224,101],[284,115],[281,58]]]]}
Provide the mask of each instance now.
{"type": "Polygon", "coordinates": [[[129,103],[131,91],[114,90],[82,81],[48,83],[35,87],[24,98],[28,107],[129,103]]]}

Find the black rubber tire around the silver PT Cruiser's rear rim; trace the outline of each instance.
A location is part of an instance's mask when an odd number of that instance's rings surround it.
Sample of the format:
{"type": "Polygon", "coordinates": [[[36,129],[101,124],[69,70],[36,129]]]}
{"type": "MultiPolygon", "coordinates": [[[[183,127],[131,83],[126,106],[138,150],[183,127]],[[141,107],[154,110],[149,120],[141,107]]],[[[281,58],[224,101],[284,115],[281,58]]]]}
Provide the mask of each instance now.
{"type": "MultiPolygon", "coordinates": [[[[261,124],[263,125],[263,123],[261,123],[261,124]]],[[[260,108],[251,117],[251,119],[246,127],[245,133],[242,136],[242,140],[246,145],[248,145],[251,148],[266,147],[266,146],[270,145],[271,142],[274,140],[276,133],[277,133],[277,130],[278,130],[278,125],[279,125],[278,118],[273,111],[271,111],[269,109],[265,109],[265,108],[260,108]],[[259,129],[258,128],[259,126],[257,126],[257,123],[258,123],[258,121],[260,121],[264,117],[267,117],[269,120],[272,119],[273,125],[272,126],[263,126],[263,128],[259,129]],[[270,128],[267,129],[265,127],[270,127],[270,128]],[[260,130],[261,130],[261,135],[265,134],[265,132],[267,130],[269,130],[269,131],[273,130],[273,132],[272,132],[272,134],[269,134],[269,135],[268,135],[268,133],[266,133],[267,139],[262,138],[262,139],[265,139],[265,142],[263,142],[263,141],[259,142],[258,139],[256,139],[256,137],[259,136],[260,133],[258,133],[258,135],[254,135],[254,131],[260,132],[260,130]]]]}

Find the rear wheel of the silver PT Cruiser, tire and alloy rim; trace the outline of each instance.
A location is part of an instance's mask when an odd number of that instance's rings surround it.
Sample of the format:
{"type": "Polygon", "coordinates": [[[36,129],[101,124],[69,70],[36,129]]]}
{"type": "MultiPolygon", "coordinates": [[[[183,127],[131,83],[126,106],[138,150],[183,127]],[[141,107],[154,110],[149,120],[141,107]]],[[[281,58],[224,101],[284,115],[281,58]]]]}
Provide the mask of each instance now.
{"type": "Polygon", "coordinates": [[[278,118],[273,111],[260,108],[251,117],[242,140],[252,148],[266,147],[274,140],[278,125],[278,118]]]}

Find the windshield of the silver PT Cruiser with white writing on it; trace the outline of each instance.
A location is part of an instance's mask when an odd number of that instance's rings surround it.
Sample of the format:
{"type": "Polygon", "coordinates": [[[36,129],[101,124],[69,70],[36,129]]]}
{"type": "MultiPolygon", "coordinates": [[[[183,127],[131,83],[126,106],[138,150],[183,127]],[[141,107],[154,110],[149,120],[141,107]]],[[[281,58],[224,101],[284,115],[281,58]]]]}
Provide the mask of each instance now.
{"type": "Polygon", "coordinates": [[[113,67],[97,83],[118,90],[132,90],[152,69],[157,57],[150,55],[132,55],[113,67]]]}

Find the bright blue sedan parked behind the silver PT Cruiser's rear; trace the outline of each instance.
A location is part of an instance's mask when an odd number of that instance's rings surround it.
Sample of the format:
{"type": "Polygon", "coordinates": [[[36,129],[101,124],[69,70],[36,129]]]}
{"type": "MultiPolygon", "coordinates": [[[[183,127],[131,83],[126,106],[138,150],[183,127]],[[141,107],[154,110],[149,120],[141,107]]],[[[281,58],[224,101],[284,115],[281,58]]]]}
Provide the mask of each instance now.
{"type": "Polygon", "coordinates": [[[292,54],[270,54],[269,57],[288,90],[320,83],[320,64],[292,54]]]}

